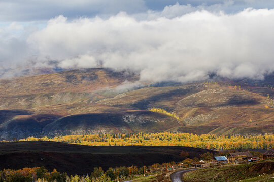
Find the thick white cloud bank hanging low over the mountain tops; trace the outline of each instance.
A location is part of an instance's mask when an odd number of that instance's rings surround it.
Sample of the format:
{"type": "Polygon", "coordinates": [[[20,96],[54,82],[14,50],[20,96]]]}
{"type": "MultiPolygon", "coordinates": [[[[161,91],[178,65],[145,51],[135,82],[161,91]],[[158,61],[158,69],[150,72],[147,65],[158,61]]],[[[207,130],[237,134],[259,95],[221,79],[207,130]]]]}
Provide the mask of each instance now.
{"type": "Polygon", "coordinates": [[[43,66],[54,60],[65,69],[130,70],[140,73],[141,81],[200,81],[212,73],[263,79],[274,71],[274,9],[248,8],[229,14],[217,8],[230,3],[176,3],[162,11],[120,12],[109,18],[70,20],[60,15],[40,30],[27,31],[25,39],[14,38],[22,42],[11,41],[11,35],[0,30],[0,39],[6,39],[1,42],[4,50],[0,49],[6,55],[0,55],[0,60],[32,60],[43,66]],[[9,57],[8,47],[14,44],[25,50],[9,57]]]}

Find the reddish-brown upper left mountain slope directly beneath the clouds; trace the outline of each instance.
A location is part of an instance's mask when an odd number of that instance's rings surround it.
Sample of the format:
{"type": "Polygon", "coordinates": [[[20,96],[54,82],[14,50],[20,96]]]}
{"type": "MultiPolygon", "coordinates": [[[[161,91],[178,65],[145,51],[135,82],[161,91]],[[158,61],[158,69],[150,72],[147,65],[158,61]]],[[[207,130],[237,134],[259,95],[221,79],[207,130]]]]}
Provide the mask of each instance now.
{"type": "Polygon", "coordinates": [[[24,76],[0,81],[0,95],[15,96],[37,93],[85,92],[113,87],[123,81],[138,80],[138,76],[115,73],[106,69],[82,69],[59,73],[24,76]]]}

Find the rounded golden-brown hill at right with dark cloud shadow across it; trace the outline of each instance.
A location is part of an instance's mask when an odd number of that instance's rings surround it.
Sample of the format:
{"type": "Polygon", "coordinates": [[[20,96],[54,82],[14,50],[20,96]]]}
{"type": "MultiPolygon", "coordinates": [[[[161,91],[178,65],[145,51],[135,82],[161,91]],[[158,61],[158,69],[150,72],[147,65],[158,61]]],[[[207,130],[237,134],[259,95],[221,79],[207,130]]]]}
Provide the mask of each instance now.
{"type": "Polygon", "coordinates": [[[187,125],[186,128],[177,130],[186,132],[190,129],[198,134],[242,135],[272,132],[274,109],[265,109],[265,103],[265,97],[246,90],[209,85],[207,90],[177,103],[176,112],[184,118],[183,122],[187,125]],[[249,122],[250,119],[252,122],[249,122]]]}

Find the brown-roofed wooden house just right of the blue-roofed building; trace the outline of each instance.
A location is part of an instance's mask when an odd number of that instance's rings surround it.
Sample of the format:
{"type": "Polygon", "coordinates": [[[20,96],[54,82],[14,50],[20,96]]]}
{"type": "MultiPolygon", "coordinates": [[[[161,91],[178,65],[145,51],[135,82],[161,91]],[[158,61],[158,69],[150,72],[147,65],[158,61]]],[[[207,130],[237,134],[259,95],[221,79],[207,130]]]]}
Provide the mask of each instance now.
{"type": "Polygon", "coordinates": [[[227,156],[227,161],[228,163],[248,163],[248,160],[251,159],[253,156],[252,154],[247,151],[247,152],[235,152],[235,153],[230,153],[227,156]]]}

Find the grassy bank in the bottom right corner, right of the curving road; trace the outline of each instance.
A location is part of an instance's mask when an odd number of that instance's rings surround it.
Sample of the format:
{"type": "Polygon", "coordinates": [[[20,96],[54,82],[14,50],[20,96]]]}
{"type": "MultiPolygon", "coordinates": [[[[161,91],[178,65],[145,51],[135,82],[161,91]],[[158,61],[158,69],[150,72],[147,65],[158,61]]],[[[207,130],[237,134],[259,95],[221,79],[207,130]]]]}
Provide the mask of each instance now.
{"type": "MultiPolygon", "coordinates": [[[[251,164],[241,164],[225,167],[212,167],[195,170],[184,174],[184,181],[227,181],[234,182],[243,179],[256,178],[259,175],[273,174],[274,160],[251,164]]],[[[250,179],[251,180],[251,179],[250,179]]],[[[252,180],[251,180],[252,181],[252,180]]]]}

